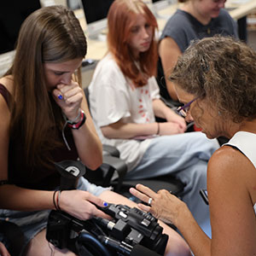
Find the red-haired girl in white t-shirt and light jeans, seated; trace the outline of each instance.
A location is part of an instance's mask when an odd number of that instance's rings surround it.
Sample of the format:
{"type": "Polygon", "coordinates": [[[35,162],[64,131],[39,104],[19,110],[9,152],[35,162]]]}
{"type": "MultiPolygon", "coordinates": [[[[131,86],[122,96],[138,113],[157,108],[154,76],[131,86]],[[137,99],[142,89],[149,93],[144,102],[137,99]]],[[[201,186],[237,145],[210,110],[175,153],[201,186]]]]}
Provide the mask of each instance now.
{"type": "Polygon", "coordinates": [[[108,11],[108,54],[89,85],[90,111],[103,144],[119,149],[127,179],[172,174],[186,184],[182,199],[210,233],[199,191],[216,139],[186,131],[185,120],[160,101],[156,73],[156,20],[140,0],[115,0],[108,11]],[[166,119],[156,122],[154,116],[166,119]]]}

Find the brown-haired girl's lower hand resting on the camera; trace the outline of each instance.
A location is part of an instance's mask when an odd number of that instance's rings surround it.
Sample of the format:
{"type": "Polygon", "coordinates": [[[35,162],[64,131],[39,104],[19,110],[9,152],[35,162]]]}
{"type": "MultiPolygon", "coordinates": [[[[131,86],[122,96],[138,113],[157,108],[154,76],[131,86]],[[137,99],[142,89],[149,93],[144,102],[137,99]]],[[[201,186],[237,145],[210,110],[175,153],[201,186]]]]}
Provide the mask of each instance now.
{"type": "MultiPolygon", "coordinates": [[[[95,195],[83,190],[63,190],[59,201],[62,211],[68,212],[76,218],[86,220],[92,217],[110,218],[98,207],[104,206],[104,201],[95,195]]],[[[106,203],[105,203],[106,204],[106,203]]]]}

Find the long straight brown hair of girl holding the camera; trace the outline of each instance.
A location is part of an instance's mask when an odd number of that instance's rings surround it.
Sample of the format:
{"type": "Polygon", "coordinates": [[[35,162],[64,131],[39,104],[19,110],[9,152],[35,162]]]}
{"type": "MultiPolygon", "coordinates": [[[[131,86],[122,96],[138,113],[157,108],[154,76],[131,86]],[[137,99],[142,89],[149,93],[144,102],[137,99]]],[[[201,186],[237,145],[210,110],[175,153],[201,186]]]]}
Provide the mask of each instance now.
{"type": "Polygon", "coordinates": [[[83,58],[86,49],[79,20],[63,6],[38,9],[20,27],[15,60],[6,75],[14,81],[10,137],[24,143],[27,164],[45,165],[45,154],[60,144],[56,127],[63,125],[61,108],[46,89],[43,64],[83,58]]]}

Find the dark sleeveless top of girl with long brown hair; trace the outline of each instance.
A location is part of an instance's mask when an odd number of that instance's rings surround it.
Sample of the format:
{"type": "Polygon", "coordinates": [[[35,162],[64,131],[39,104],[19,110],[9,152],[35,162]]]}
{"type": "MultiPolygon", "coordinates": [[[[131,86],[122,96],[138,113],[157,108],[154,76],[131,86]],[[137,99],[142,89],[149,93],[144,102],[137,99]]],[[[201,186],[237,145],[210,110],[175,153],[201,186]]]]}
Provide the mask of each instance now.
{"type": "MultiPolygon", "coordinates": [[[[0,94],[5,99],[9,106],[11,95],[9,90],[3,84],[0,84],[0,94]]],[[[61,131],[58,134],[58,141],[63,146],[52,148],[49,152],[51,159],[55,162],[61,160],[77,160],[79,155],[73,142],[73,136],[70,128],[66,128],[65,136],[71,150],[63,142],[61,131]]],[[[53,190],[60,185],[60,174],[56,171],[54,164],[49,163],[52,168],[45,168],[44,166],[26,166],[24,159],[24,148],[26,145],[22,144],[20,138],[10,137],[9,139],[9,183],[14,183],[17,186],[26,189],[43,189],[53,190]]]]}

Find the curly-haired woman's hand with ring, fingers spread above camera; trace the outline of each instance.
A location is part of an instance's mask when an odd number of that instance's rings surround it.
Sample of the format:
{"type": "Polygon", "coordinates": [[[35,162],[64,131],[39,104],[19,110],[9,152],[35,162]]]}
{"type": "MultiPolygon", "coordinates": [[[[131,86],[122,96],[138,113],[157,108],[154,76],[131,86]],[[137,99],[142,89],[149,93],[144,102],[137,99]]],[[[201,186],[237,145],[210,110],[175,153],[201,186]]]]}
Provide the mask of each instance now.
{"type": "Polygon", "coordinates": [[[155,193],[148,187],[145,187],[142,184],[137,184],[136,189],[131,188],[130,192],[141,201],[150,203],[150,206],[138,204],[138,207],[143,211],[151,212],[155,218],[166,223],[176,225],[179,213],[187,207],[183,201],[180,201],[175,195],[172,195],[165,189],[161,189],[155,193]],[[149,200],[150,198],[152,198],[152,200],[149,200]]]}

